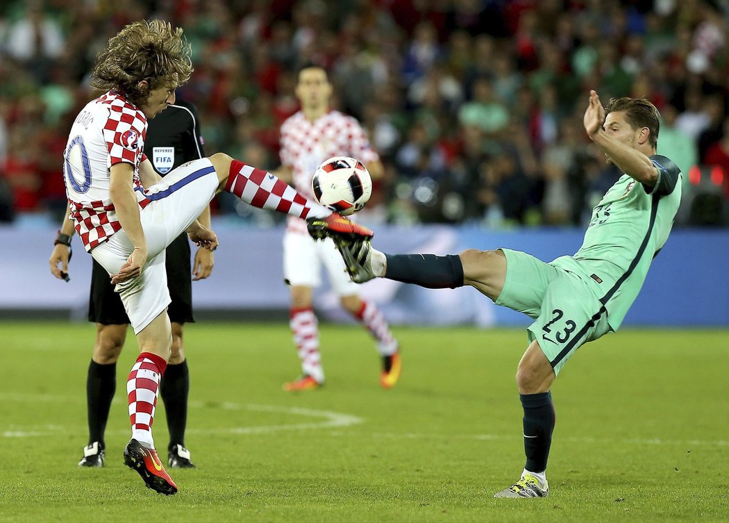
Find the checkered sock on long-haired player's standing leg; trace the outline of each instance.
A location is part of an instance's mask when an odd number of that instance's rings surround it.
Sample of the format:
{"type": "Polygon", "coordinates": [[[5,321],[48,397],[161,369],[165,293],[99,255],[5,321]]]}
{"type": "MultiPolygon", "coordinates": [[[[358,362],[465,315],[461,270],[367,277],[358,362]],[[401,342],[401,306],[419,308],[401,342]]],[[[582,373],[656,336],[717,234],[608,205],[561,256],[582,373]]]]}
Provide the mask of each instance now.
{"type": "Polygon", "coordinates": [[[149,449],[155,448],[152,422],[155,421],[157,391],[167,362],[152,352],[142,352],[134,363],[127,381],[129,420],[132,438],[149,449]]]}

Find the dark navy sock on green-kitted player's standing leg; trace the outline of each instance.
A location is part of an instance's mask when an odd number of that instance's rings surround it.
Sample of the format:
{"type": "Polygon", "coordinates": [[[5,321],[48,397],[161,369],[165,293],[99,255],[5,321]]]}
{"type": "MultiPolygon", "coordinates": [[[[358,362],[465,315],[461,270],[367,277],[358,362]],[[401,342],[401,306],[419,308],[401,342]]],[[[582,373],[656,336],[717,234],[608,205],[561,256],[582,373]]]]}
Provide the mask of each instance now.
{"type": "Polygon", "coordinates": [[[547,470],[547,459],[552,444],[552,431],[555,424],[554,403],[551,392],[520,394],[524,408],[524,452],[529,472],[547,470]]]}

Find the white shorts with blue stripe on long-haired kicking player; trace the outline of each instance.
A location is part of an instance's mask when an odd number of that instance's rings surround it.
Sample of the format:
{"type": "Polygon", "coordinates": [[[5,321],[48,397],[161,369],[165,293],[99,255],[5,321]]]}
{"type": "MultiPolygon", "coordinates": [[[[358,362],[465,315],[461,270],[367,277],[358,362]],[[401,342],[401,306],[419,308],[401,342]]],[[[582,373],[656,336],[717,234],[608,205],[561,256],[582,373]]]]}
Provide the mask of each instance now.
{"type": "MultiPolygon", "coordinates": [[[[134,333],[147,327],[170,303],[165,271],[165,249],[190,227],[214,197],[219,185],[207,158],[184,163],[144,191],[149,204],[139,209],[147,240],[147,263],[141,274],[117,284],[134,333]]],[[[91,251],[109,274],[117,274],[134,246],[122,229],[91,251]]]]}

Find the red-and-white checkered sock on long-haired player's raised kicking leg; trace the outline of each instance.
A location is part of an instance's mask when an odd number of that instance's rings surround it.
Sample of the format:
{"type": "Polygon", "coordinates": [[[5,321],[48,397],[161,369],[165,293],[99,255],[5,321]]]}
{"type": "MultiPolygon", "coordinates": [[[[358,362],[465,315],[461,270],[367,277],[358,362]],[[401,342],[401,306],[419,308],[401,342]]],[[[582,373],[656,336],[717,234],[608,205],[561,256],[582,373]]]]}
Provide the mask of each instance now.
{"type": "Polygon", "coordinates": [[[325,218],[331,209],[304,198],[294,187],[274,174],[239,160],[230,163],[225,190],[260,209],[291,214],[299,218],[325,218]]]}

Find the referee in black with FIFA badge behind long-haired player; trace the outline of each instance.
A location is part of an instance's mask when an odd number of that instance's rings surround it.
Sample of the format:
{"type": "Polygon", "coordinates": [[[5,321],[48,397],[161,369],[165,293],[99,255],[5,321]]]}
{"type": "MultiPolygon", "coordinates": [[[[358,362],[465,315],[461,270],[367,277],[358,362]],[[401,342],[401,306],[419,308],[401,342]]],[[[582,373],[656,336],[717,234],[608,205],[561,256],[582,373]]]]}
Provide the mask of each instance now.
{"type": "MultiPolygon", "coordinates": [[[[174,104],[149,120],[144,154],[162,177],[187,161],[204,158],[200,119],[195,106],[177,98],[174,104]]],[[[73,222],[66,218],[68,216],[64,217],[55,239],[50,266],[56,277],[68,279],[74,228],[73,222]],[[59,263],[61,271],[58,271],[59,263]]],[[[200,222],[210,225],[209,207],[200,216],[200,222]]],[[[167,282],[172,298],[168,307],[172,323],[172,355],[160,384],[160,393],[165,403],[170,433],[170,467],[195,466],[184,444],[190,374],[182,343],[182,328],[186,322],[195,321],[192,317],[192,279],[210,276],[213,264],[213,253],[199,248],[195,253],[194,266],[191,266],[190,241],[185,233],[167,247],[167,282]]],[[[91,274],[89,321],[96,323],[96,341],[86,381],[89,440],[79,467],[103,467],[104,429],[117,387],[117,360],[124,346],[129,318],[119,295],[114,293],[109,274],[95,260],[91,274]]]]}

